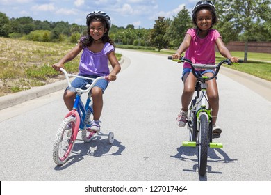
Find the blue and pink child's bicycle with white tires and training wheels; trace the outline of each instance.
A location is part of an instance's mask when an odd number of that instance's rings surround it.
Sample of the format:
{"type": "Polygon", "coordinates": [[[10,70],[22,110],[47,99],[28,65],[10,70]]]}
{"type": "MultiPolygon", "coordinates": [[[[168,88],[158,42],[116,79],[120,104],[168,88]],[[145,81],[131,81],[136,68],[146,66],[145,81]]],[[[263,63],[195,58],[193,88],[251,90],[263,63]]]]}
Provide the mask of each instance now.
{"type": "MultiPolygon", "coordinates": [[[[69,81],[69,76],[72,77],[81,77],[78,75],[67,74],[67,72],[60,68],[65,74],[67,84],[69,88],[72,88],[72,85],[69,81]]],[[[91,79],[88,77],[83,77],[84,79],[91,79]]],[[[110,144],[114,141],[113,132],[109,132],[109,134],[103,134],[101,132],[96,132],[92,130],[88,130],[91,124],[91,115],[93,114],[93,109],[91,106],[91,92],[90,90],[100,79],[108,79],[107,77],[97,77],[96,79],[91,79],[92,84],[87,84],[86,89],[83,90],[81,88],[76,88],[76,98],[74,101],[73,109],[66,114],[63,122],[58,127],[58,131],[56,134],[56,140],[54,142],[53,148],[53,159],[54,162],[58,165],[62,165],[67,162],[69,155],[72,153],[72,148],[76,141],[76,137],[79,131],[81,131],[82,140],[85,143],[89,143],[93,139],[93,135],[97,133],[101,136],[108,136],[108,141],[110,144]],[[81,95],[83,93],[88,93],[88,98],[83,104],[81,100],[81,95]]]]}

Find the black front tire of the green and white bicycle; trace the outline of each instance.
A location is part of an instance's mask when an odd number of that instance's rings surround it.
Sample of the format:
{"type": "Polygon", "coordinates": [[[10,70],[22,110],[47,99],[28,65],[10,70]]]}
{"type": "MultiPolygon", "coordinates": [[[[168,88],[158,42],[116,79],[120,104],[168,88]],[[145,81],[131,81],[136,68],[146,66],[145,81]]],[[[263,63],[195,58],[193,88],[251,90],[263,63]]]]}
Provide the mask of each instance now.
{"type": "Polygon", "coordinates": [[[199,117],[198,143],[199,175],[204,176],[206,174],[208,157],[208,121],[205,114],[199,117]]]}

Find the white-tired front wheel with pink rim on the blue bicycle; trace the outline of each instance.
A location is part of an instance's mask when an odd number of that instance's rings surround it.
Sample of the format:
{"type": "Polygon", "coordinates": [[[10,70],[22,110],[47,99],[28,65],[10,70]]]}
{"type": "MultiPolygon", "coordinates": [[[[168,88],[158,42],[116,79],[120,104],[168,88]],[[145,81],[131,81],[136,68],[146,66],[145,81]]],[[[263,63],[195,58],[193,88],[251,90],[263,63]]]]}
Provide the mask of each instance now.
{"type": "MultiPolygon", "coordinates": [[[[63,120],[56,133],[56,140],[53,148],[53,159],[57,165],[63,165],[67,162],[69,155],[72,153],[72,148],[76,137],[74,138],[76,118],[74,116],[68,116],[63,120]],[[70,125],[72,128],[69,130],[66,127],[70,125]]],[[[77,130],[78,131],[78,130],[77,130]]]]}

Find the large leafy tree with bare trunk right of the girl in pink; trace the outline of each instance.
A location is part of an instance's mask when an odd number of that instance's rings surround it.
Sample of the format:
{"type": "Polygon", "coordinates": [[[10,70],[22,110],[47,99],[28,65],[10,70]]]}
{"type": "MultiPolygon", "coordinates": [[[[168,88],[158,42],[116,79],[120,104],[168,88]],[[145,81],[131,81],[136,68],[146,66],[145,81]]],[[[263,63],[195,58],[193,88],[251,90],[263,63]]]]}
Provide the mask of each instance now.
{"type": "Polygon", "coordinates": [[[220,19],[217,29],[223,36],[228,38],[227,40],[233,40],[238,34],[242,33],[245,41],[245,62],[247,61],[247,42],[254,40],[255,29],[264,22],[267,22],[265,24],[270,24],[270,3],[270,0],[215,1],[220,19]]]}

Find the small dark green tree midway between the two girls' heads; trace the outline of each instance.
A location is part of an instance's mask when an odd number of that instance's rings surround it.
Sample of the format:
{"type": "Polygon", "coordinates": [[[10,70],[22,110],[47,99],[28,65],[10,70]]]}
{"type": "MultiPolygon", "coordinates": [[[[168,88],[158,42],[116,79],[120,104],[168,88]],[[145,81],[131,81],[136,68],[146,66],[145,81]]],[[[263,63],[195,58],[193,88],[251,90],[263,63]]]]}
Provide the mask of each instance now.
{"type": "Polygon", "coordinates": [[[151,43],[158,47],[158,52],[167,45],[167,40],[165,39],[165,33],[167,31],[167,25],[165,22],[165,17],[158,17],[155,21],[154,29],[151,31],[151,43]]]}

